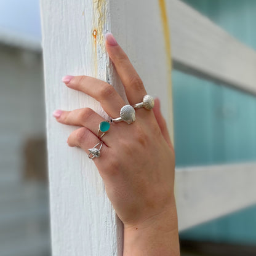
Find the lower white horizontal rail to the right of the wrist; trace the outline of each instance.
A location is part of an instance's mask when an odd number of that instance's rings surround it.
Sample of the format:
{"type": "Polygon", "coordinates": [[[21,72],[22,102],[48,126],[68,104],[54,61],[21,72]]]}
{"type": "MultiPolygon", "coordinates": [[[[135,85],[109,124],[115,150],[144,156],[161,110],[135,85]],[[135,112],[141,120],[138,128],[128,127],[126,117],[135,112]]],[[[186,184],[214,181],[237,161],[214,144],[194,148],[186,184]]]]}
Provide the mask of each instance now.
{"type": "Polygon", "coordinates": [[[256,163],[178,168],[180,230],[256,203],[256,163]]]}

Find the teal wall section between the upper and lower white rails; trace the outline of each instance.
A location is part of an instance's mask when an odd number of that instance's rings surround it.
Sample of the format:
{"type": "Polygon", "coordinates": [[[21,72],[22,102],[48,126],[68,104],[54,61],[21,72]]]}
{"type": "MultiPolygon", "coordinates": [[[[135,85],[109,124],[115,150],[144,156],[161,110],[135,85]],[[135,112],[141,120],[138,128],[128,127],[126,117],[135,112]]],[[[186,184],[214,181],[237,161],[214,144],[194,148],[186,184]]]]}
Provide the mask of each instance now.
{"type": "Polygon", "coordinates": [[[177,166],[256,160],[256,97],[172,71],[177,166]]]}

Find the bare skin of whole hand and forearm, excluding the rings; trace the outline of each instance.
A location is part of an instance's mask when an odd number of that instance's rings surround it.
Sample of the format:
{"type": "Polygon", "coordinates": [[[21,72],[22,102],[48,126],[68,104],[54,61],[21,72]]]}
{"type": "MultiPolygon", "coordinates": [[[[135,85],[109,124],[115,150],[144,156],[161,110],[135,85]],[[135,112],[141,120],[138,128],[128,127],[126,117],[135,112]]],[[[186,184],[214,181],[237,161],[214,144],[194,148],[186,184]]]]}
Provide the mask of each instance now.
{"type": "MultiPolygon", "coordinates": [[[[106,35],[110,56],[130,105],[142,102],[143,82],[112,34],[106,35]]],[[[66,86],[94,97],[106,113],[118,118],[126,105],[114,88],[89,76],[68,76],[66,86]]],[[[104,119],[90,108],[57,111],[58,122],[78,126],[69,146],[88,154],[98,142],[98,124],[104,119]]],[[[180,255],[177,210],[174,199],[175,154],[162,117],[159,99],[152,110],[136,110],[136,121],[111,124],[101,138],[100,158],[93,161],[105,183],[116,214],[124,223],[124,256],[180,255]]]]}

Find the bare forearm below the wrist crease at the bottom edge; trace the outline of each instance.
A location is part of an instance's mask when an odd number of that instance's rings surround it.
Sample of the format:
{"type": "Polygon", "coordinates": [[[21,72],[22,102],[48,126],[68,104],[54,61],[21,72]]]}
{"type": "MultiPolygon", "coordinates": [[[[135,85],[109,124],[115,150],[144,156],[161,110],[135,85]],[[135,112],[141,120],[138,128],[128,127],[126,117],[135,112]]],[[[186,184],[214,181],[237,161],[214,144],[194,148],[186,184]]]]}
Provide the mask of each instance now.
{"type": "Polygon", "coordinates": [[[176,207],[143,222],[124,227],[123,256],[179,256],[176,207]]]}

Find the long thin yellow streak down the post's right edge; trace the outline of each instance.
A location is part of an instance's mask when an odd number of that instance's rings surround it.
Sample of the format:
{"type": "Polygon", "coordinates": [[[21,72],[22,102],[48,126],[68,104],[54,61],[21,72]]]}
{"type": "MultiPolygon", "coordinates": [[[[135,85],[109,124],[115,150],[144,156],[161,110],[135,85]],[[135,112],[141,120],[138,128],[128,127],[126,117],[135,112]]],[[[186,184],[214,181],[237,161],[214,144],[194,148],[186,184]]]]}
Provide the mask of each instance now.
{"type": "Polygon", "coordinates": [[[164,42],[166,46],[166,64],[167,64],[167,77],[168,77],[168,95],[169,95],[169,130],[170,130],[170,138],[172,143],[174,144],[174,118],[173,118],[173,107],[172,107],[172,55],[170,52],[170,28],[168,23],[167,11],[166,11],[166,2],[165,0],[158,0],[159,8],[161,11],[161,19],[162,19],[162,30],[164,35],[164,42]]]}

